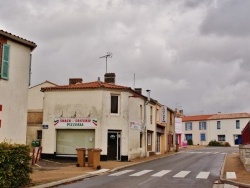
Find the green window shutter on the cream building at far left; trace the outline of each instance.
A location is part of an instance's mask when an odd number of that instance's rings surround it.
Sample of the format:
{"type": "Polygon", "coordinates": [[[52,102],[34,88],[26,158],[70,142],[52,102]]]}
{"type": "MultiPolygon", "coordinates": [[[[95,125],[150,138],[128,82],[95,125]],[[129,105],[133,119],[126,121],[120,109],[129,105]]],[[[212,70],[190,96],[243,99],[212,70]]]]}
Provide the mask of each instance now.
{"type": "Polygon", "coordinates": [[[9,59],[10,59],[10,45],[4,44],[2,53],[1,78],[5,80],[9,79],[9,59]]]}

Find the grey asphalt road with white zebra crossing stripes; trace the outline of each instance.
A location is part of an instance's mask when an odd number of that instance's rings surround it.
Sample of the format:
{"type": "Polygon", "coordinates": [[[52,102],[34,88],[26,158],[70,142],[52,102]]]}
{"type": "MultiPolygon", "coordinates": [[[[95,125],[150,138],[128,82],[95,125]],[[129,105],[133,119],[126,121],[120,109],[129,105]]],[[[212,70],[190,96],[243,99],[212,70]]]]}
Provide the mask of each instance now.
{"type": "Polygon", "coordinates": [[[62,188],[212,188],[233,147],[206,147],[96,176],[62,188]]]}

